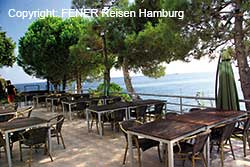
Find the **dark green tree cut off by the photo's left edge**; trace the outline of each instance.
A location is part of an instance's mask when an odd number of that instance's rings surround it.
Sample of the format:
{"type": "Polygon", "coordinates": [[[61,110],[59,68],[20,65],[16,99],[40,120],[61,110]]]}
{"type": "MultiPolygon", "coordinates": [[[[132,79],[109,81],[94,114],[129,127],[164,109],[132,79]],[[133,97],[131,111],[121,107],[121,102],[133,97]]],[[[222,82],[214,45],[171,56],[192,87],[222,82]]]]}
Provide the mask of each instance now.
{"type": "Polygon", "coordinates": [[[15,43],[6,36],[0,27],[0,68],[3,66],[12,66],[16,60],[14,55],[15,43]]]}

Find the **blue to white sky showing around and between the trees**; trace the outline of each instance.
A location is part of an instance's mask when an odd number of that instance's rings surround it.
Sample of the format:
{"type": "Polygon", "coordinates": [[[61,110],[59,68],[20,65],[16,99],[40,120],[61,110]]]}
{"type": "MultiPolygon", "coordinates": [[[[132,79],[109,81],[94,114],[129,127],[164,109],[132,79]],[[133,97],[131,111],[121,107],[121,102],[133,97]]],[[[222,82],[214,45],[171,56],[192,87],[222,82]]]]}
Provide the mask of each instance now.
{"type": "MultiPolygon", "coordinates": [[[[0,0],[0,27],[2,27],[3,31],[7,32],[7,36],[11,37],[16,42],[16,46],[18,46],[18,39],[24,36],[29,25],[35,18],[12,18],[8,15],[10,9],[15,9],[16,11],[61,10],[63,8],[69,9],[70,6],[71,0],[0,0]]],[[[16,49],[16,55],[17,54],[16,49]]],[[[189,63],[176,61],[166,64],[166,74],[215,72],[216,67],[217,60],[210,62],[208,58],[192,60],[189,63]]],[[[32,76],[28,76],[17,64],[14,64],[12,68],[4,67],[0,69],[0,75],[5,79],[10,79],[14,84],[42,81],[32,76]]],[[[131,75],[136,76],[141,74],[132,73],[131,75]]],[[[122,77],[122,72],[113,69],[111,71],[111,77],[122,77]]]]}

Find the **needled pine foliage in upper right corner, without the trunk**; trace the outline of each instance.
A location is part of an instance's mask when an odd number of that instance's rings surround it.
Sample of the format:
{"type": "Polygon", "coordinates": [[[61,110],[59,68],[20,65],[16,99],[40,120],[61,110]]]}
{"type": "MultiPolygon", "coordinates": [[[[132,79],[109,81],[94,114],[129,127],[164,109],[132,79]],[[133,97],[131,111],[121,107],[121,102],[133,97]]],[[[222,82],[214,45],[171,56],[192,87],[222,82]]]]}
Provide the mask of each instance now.
{"type": "MultiPolygon", "coordinates": [[[[247,21],[249,15],[249,1],[211,1],[211,0],[168,0],[164,2],[164,8],[172,10],[183,10],[184,20],[174,19],[175,25],[181,27],[181,34],[185,38],[196,38],[192,43],[193,47],[187,56],[200,58],[210,55],[219,47],[232,45],[230,42],[235,37],[235,16],[237,12],[242,12],[244,16],[244,33],[249,34],[250,22],[247,21]],[[241,5],[237,10],[237,4],[241,5]],[[226,11],[226,12],[225,12],[226,11]]],[[[249,39],[249,35],[244,36],[244,40],[249,39]]]]}

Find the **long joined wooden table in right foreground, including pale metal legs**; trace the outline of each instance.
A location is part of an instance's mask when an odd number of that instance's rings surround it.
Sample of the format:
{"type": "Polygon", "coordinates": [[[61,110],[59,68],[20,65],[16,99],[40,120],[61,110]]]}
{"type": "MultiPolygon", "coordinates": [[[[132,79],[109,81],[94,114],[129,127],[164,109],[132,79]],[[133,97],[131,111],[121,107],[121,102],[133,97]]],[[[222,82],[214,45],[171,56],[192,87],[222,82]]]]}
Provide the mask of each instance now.
{"type": "MultiPolygon", "coordinates": [[[[168,146],[168,164],[169,167],[174,167],[173,145],[188,136],[198,132],[210,129],[217,125],[236,120],[247,115],[241,111],[196,111],[178,116],[171,116],[165,120],[155,121],[143,124],[139,127],[128,129],[128,142],[131,167],[134,166],[133,150],[132,150],[132,135],[142,136],[152,140],[156,140],[167,144],[168,146]]],[[[207,141],[207,161],[210,165],[209,154],[209,138],[207,141]]]]}

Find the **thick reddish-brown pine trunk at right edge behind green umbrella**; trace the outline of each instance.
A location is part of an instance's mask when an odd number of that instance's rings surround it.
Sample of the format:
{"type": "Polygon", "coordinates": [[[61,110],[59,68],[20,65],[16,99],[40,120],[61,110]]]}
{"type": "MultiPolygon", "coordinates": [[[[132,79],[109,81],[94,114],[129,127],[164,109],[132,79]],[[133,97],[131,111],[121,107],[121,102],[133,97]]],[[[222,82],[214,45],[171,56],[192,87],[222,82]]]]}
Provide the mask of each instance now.
{"type": "MultiPolygon", "coordinates": [[[[236,1],[236,9],[242,9],[242,0],[236,1]]],[[[234,42],[236,59],[239,66],[239,75],[241,89],[244,99],[250,99],[250,69],[247,62],[247,54],[245,52],[244,34],[243,34],[243,14],[239,11],[235,14],[235,27],[234,27],[234,42]]],[[[246,109],[250,110],[250,103],[246,103],[246,109]]]]}

